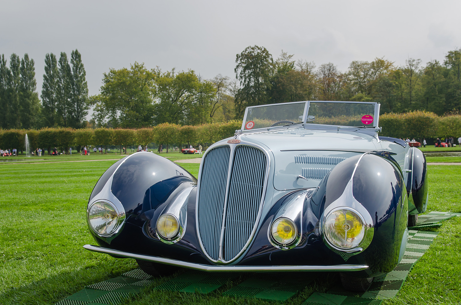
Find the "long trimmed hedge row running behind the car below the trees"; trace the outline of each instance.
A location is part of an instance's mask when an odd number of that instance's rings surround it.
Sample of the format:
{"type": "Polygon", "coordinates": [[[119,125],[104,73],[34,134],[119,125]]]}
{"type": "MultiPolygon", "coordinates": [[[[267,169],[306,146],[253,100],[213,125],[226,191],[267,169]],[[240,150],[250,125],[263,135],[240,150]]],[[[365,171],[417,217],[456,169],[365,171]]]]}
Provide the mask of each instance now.
{"type": "MultiPolygon", "coordinates": [[[[331,123],[331,122],[329,122],[331,123]]],[[[461,115],[437,116],[433,112],[413,111],[407,113],[390,113],[380,115],[379,126],[383,127],[380,135],[395,138],[444,138],[461,135],[461,115]]],[[[22,151],[27,133],[30,148],[59,147],[67,151],[71,146],[85,145],[122,146],[148,145],[149,143],[164,144],[168,150],[169,144],[201,144],[208,146],[223,138],[231,137],[242,127],[242,121],[226,123],[210,123],[201,126],[180,126],[163,123],[151,128],[141,129],[72,129],[43,128],[40,130],[0,130],[0,148],[17,148],[22,151]]]]}

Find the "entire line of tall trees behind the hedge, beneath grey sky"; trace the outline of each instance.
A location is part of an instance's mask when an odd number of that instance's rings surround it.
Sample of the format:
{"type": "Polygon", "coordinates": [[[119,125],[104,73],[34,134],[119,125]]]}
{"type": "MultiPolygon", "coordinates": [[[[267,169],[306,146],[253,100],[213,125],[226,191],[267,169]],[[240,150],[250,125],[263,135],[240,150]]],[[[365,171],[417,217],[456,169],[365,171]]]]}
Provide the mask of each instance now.
{"type": "Polygon", "coordinates": [[[408,58],[397,66],[385,58],[353,61],[342,72],[319,67],[282,50],[273,58],[262,46],[236,54],[236,79],[204,79],[194,70],[162,71],[143,63],[110,69],[100,93],[88,96],[81,54],[45,56],[41,100],[35,92],[34,60],[27,54],[0,58],[0,127],[142,128],[162,123],[198,126],[241,120],[247,106],[301,100],[378,102],[381,114],[421,110],[436,115],[461,110],[461,49],[443,62],[408,58]],[[88,110],[93,116],[85,121],[88,110]]]}

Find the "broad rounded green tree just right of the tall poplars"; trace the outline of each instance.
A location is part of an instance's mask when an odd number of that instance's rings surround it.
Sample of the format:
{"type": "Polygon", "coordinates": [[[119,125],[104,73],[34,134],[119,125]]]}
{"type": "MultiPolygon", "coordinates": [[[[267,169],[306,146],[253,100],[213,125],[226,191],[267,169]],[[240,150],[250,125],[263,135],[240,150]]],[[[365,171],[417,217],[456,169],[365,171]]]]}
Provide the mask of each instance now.
{"type": "Polygon", "coordinates": [[[104,73],[101,93],[91,98],[93,118],[102,126],[139,128],[151,126],[154,116],[154,77],[144,63],[130,69],[104,73]]]}

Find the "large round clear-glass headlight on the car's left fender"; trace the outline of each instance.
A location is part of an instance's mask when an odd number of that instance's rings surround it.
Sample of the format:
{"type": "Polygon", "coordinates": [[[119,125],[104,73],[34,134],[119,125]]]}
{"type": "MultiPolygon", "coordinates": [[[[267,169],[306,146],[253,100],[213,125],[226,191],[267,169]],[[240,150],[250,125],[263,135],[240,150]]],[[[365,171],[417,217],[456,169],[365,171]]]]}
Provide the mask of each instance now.
{"type": "Polygon", "coordinates": [[[124,212],[108,201],[96,201],[88,209],[88,224],[100,236],[111,236],[124,219],[124,212]]]}

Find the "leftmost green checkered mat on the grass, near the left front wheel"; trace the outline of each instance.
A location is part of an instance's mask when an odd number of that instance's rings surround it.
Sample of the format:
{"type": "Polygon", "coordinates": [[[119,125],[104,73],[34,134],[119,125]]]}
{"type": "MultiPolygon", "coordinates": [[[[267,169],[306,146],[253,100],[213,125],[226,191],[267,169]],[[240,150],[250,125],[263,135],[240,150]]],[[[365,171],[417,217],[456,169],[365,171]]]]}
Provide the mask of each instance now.
{"type": "Polygon", "coordinates": [[[139,293],[154,283],[154,278],[141,269],[125,272],[121,276],[89,285],[59,301],[56,305],[114,305],[122,303],[131,294],[139,293]]]}

